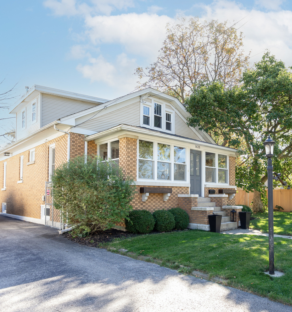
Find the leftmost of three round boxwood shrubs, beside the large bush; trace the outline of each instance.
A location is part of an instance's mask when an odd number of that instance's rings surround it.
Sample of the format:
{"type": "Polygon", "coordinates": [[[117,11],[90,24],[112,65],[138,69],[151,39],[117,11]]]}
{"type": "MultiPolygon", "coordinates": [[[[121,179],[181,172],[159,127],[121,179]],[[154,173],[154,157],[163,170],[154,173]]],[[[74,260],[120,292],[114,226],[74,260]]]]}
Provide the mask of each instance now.
{"type": "Polygon", "coordinates": [[[125,219],[126,229],[131,233],[147,234],[153,231],[155,220],[148,210],[132,210],[125,219]]]}

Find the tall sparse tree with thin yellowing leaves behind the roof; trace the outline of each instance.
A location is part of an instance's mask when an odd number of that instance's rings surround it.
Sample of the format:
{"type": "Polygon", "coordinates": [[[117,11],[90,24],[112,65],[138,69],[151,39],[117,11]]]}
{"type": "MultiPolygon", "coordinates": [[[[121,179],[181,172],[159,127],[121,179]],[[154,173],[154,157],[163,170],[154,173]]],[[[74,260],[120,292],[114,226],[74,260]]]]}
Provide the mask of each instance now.
{"type": "Polygon", "coordinates": [[[155,87],[176,96],[183,103],[198,81],[221,81],[236,84],[242,69],[248,66],[243,51],[243,34],[237,35],[227,21],[201,24],[199,18],[181,19],[167,24],[167,37],[155,63],[138,67],[135,74],[146,82],[140,87],[155,87]]]}

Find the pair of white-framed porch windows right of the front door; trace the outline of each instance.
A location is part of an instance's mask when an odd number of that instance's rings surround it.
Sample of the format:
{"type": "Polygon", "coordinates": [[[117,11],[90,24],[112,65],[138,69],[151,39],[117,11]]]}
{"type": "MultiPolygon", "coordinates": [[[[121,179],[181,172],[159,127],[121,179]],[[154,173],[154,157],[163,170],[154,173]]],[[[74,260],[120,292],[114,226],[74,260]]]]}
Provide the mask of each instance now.
{"type": "Polygon", "coordinates": [[[206,152],[205,181],[211,183],[228,183],[227,155],[206,152]]]}

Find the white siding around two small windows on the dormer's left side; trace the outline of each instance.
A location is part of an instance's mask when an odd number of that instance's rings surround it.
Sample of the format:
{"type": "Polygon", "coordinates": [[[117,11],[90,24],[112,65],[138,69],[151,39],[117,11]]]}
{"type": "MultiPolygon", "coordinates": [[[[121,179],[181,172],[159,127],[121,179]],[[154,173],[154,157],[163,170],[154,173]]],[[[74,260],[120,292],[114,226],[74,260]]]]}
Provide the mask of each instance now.
{"type": "Polygon", "coordinates": [[[24,137],[29,136],[33,132],[40,129],[40,94],[37,95],[33,100],[29,101],[26,106],[22,107],[16,113],[16,140],[23,139],[24,137]],[[32,122],[32,107],[31,104],[36,99],[36,120],[32,122]],[[22,129],[22,111],[26,110],[26,127],[22,129]]]}

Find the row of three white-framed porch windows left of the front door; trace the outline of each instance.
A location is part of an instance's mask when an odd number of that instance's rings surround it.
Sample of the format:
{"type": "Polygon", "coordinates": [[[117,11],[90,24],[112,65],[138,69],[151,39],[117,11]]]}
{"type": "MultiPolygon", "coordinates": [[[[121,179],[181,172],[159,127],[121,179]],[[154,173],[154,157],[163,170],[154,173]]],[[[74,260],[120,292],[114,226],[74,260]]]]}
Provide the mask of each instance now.
{"type": "Polygon", "coordinates": [[[139,140],[138,178],[186,181],[186,149],[139,140]]]}

